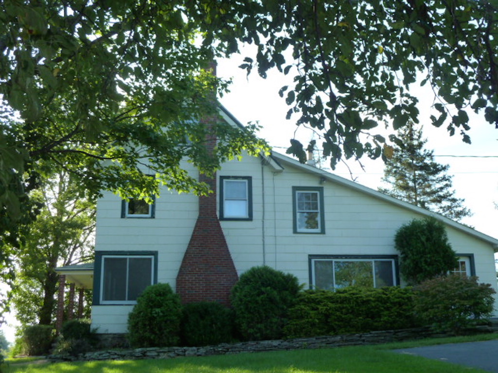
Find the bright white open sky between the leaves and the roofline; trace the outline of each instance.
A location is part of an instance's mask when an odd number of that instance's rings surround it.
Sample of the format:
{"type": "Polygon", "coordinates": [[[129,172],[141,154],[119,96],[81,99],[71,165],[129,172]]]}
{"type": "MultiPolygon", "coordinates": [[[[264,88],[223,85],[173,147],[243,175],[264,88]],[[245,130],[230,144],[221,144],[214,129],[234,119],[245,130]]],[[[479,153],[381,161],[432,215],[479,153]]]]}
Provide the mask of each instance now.
{"type": "MultiPolygon", "coordinates": [[[[291,84],[288,78],[276,70],[269,73],[266,79],[260,78],[255,71],[247,77],[246,72],[238,68],[244,57],[239,55],[218,60],[217,75],[233,81],[230,93],[224,94],[220,102],[241,123],[258,121],[262,126],[259,136],[279,153],[285,154],[291,138],[295,137],[303,144],[309,141],[312,138],[309,129],[298,128],[295,125],[296,119],[294,122],[293,118],[285,119],[289,106],[278,95],[278,90],[291,84]]],[[[426,149],[434,150],[436,162],[450,165],[448,174],[453,176],[455,196],[465,199],[464,205],[473,212],[473,216],[463,219],[462,223],[498,238],[498,210],[494,205],[494,202],[498,202],[498,129],[486,122],[484,115],[472,113],[469,114],[471,130],[468,132],[472,144],[464,143],[458,134],[450,137],[444,125],[436,128],[430,123],[434,94],[428,88],[420,88],[415,84],[410,89],[419,98],[421,118],[427,118],[423,125],[423,136],[428,139],[426,149]]],[[[421,120],[421,123],[424,121],[421,120]]],[[[364,171],[356,161],[347,162],[353,171],[352,175],[345,165],[339,165],[335,171],[330,171],[377,189],[382,185],[382,160],[369,160],[365,157],[362,163],[364,171]]],[[[323,166],[327,166],[326,161],[323,166]]]]}

